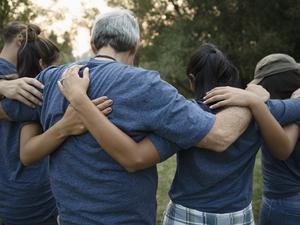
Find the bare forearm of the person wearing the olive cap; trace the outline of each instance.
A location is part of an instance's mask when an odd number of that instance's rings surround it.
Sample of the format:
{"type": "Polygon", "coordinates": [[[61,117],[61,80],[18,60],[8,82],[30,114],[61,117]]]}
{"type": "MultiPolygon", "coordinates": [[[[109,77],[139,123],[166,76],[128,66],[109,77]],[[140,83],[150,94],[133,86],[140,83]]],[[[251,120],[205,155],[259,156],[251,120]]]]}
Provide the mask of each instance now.
{"type": "Polygon", "coordinates": [[[284,129],[263,102],[252,106],[251,111],[272,155],[280,160],[286,159],[293,146],[284,129]]]}

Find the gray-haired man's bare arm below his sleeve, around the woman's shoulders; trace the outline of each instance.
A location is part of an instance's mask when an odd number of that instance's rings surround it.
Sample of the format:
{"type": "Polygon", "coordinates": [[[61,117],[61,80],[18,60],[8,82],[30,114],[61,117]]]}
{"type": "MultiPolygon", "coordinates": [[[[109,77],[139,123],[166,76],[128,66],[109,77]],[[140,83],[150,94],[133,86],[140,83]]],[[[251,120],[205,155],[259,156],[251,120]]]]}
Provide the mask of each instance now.
{"type": "Polygon", "coordinates": [[[211,131],[197,147],[218,152],[226,150],[247,129],[252,115],[250,110],[242,107],[229,107],[217,113],[216,122],[211,131]]]}

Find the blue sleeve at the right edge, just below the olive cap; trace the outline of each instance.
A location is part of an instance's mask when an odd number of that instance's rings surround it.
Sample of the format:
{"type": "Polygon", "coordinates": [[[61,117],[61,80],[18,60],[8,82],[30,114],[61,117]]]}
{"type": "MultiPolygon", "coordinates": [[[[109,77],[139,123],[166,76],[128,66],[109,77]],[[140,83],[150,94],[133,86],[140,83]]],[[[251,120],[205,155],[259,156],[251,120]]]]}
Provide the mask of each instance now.
{"type": "Polygon", "coordinates": [[[269,100],[267,105],[281,125],[300,121],[300,99],[269,100]]]}

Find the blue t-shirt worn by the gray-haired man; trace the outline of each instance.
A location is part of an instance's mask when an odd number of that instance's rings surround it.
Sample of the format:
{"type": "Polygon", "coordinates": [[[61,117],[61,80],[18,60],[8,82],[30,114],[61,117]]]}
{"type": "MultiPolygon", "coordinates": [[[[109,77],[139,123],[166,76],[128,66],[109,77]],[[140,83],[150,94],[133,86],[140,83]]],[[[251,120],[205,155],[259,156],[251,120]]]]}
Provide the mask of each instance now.
{"type": "MultiPolygon", "coordinates": [[[[157,72],[95,59],[87,66],[89,97],[111,98],[109,119],[136,141],[152,132],[187,149],[214,124],[215,115],[187,101],[157,72]]],[[[27,120],[40,114],[45,130],[55,124],[68,105],[57,87],[65,68],[49,68],[37,77],[45,88],[43,106],[36,113],[18,102],[4,101],[9,117],[27,120]]],[[[163,160],[168,153],[161,150],[160,155],[163,160]]],[[[62,224],[155,224],[156,167],[128,173],[89,133],[69,137],[51,155],[50,177],[62,224]]]]}

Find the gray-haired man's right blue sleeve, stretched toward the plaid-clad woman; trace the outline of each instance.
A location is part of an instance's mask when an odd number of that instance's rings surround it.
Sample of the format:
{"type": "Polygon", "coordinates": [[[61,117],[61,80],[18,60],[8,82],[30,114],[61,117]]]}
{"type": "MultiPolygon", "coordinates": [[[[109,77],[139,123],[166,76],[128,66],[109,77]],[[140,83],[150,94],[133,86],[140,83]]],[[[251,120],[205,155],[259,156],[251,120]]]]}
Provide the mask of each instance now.
{"type": "Polygon", "coordinates": [[[146,125],[152,132],[182,149],[198,143],[215,123],[214,114],[185,99],[159,75],[152,77],[143,96],[147,104],[142,106],[141,113],[147,115],[146,125]]]}

